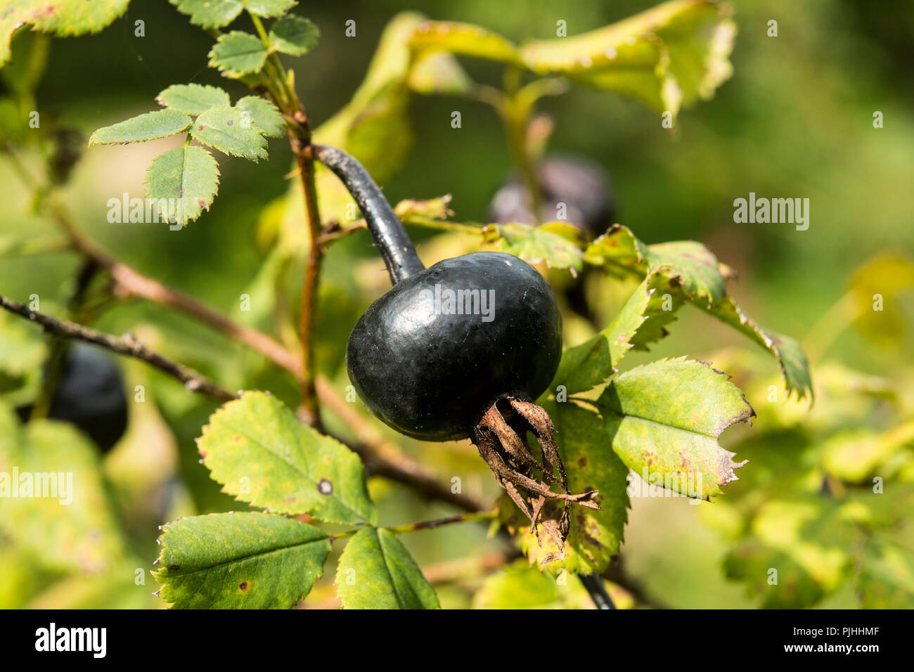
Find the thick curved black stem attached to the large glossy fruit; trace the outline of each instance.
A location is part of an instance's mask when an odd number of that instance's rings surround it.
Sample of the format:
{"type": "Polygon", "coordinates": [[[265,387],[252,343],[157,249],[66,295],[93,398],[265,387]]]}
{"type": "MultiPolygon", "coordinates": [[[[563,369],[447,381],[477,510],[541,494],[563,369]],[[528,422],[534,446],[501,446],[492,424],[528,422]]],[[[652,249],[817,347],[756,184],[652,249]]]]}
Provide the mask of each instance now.
{"type": "Polygon", "coordinates": [[[356,199],[365,216],[368,230],[388,267],[390,283],[397,284],[425,270],[409,240],[406,229],[397,218],[368,171],[343,150],[324,144],[311,145],[314,158],[330,168],[356,199]]]}

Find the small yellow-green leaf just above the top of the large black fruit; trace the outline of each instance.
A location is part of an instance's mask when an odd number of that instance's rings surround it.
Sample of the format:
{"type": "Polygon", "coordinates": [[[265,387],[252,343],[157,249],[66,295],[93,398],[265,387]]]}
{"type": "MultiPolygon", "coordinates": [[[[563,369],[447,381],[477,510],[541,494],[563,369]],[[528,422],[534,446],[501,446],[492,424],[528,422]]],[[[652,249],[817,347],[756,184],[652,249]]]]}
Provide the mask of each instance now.
{"type": "Polygon", "coordinates": [[[514,254],[530,263],[546,261],[549,268],[567,268],[577,276],[583,268],[580,229],[563,222],[538,227],[526,224],[489,224],[483,240],[497,242],[498,250],[514,254]]]}

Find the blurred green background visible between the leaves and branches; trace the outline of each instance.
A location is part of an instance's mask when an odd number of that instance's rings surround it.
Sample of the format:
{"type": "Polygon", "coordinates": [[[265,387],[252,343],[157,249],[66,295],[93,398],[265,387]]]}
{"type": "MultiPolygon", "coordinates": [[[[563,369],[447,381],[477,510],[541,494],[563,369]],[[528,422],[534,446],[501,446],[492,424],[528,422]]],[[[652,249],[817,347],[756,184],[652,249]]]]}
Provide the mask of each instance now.
{"type": "MultiPolygon", "coordinates": [[[[317,125],[349,100],[383,27],[404,9],[472,22],[520,42],[553,37],[558,19],[565,19],[569,35],[574,35],[652,5],[634,0],[515,1],[510,9],[484,0],[301,3],[295,11],[314,20],[322,39],[306,59],[290,62],[299,94],[317,125]],[[344,24],[350,18],[356,20],[356,37],[344,36],[344,24]]],[[[866,0],[738,0],[733,5],[739,27],[731,57],[734,75],[713,100],[681,112],[674,133],[664,130],[654,112],[635,101],[576,88],[540,106],[556,123],[548,151],[586,155],[605,165],[618,204],[617,221],[648,243],[685,239],[706,243],[739,273],[731,292],[749,315],[802,339],[845,294],[857,265],[880,251],[908,255],[914,251],[910,202],[914,5],[907,0],[877,5],[866,0]],[[767,36],[770,19],[778,21],[778,37],[767,36]],[[881,129],[873,127],[876,111],[884,115],[881,129]],[[733,200],[748,197],[750,191],[760,197],[809,198],[809,229],[734,223],[733,200]]],[[[37,109],[43,115],[58,116],[88,137],[96,128],[154,109],[154,96],[172,83],[216,84],[229,91],[232,100],[245,95],[238,82],[207,69],[211,44],[211,37],[162,0],[133,0],[128,14],[100,35],[52,41],[48,70],[37,91],[37,109]],[[133,36],[138,18],[145,22],[145,37],[133,36]]],[[[498,68],[469,60],[462,63],[477,80],[497,83],[500,78],[498,68]]],[[[482,221],[486,204],[511,170],[494,112],[472,101],[417,97],[411,116],[416,144],[405,168],[383,185],[388,199],[452,194],[454,219],[482,221]],[[451,127],[452,110],[462,112],[459,130],[451,127]]],[[[264,260],[255,239],[256,224],[261,209],[286,191],[283,176],[290,170],[291,153],[282,141],[274,141],[270,160],[260,165],[220,155],[221,183],[214,205],[179,235],[164,227],[108,223],[108,198],[124,191],[140,196],[146,166],[169,143],[90,148],[66,189],[65,200],[80,225],[119,257],[231,314],[264,260]]],[[[27,165],[37,163],[27,158],[27,165]]],[[[29,214],[27,194],[3,161],[0,197],[3,234],[53,230],[46,220],[29,214]]],[[[325,276],[331,298],[335,280],[350,272],[348,264],[356,257],[370,259],[372,253],[364,234],[347,240],[339,252],[334,249],[325,276]]],[[[0,292],[17,300],[37,293],[64,304],[77,265],[76,258],[66,253],[0,260],[0,292]]],[[[372,298],[364,297],[361,307],[372,298]]],[[[360,306],[340,307],[328,299],[324,307],[320,333],[330,343],[322,352],[321,365],[339,381],[340,348],[360,306]]],[[[682,354],[703,358],[718,347],[744,345],[740,336],[708,322],[697,311],[684,312],[670,338],[650,355],[639,354],[632,361],[682,354]]],[[[138,324],[154,325],[166,352],[201,368],[229,389],[266,387],[294,400],[288,381],[281,382],[269,371],[261,379],[250,379],[249,355],[180,315],[131,303],[103,315],[97,326],[121,333],[138,324]]],[[[846,330],[829,356],[892,378],[909,374],[910,346],[908,340],[898,348],[872,347],[854,330],[846,330]]],[[[769,361],[768,366],[773,374],[776,364],[769,361]]],[[[131,368],[127,375],[150,376],[155,381],[155,400],[174,433],[183,481],[190,486],[193,500],[187,509],[175,507],[196,512],[242,508],[219,495],[218,485],[197,464],[193,439],[212,404],[157,374],[131,368]]],[[[756,409],[760,415],[764,412],[756,409]]],[[[437,455],[432,452],[438,449],[434,446],[410,444],[409,449],[435,464],[437,455]]],[[[443,474],[452,473],[452,464],[461,464],[460,468],[476,474],[465,487],[495,494],[487,472],[478,469],[483,464],[472,445],[441,450],[441,464],[449,465],[441,467],[443,474]]],[[[740,475],[750,486],[751,465],[740,475]]],[[[385,523],[450,511],[427,506],[398,485],[376,482],[372,487],[384,495],[381,519],[385,523]]],[[[634,499],[622,549],[626,570],[646,594],[666,605],[753,605],[742,585],[723,578],[720,563],[726,545],[701,525],[698,508],[682,499],[634,499]]],[[[156,530],[132,532],[141,557],[151,560],[156,530]]],[[[462,526],[410,535],[404,541],[420,565],[428,565],[461,558],[473,549],[491,549],[494,542],[486,541],[484,532],[484,528],[462,526]]],[[[28,603],[40,593],[37,588],[32,592],[24,592],[21,602],[28,603]]],[[[441,591],[441,599],[452,606],[469,600],[466,592],[447,589],[441,591]]],[[[838,592],[825,604],[851,605],[849,599],[838,592]]],[[[57,603],[66,603],[60,600],[57,603]]]]}

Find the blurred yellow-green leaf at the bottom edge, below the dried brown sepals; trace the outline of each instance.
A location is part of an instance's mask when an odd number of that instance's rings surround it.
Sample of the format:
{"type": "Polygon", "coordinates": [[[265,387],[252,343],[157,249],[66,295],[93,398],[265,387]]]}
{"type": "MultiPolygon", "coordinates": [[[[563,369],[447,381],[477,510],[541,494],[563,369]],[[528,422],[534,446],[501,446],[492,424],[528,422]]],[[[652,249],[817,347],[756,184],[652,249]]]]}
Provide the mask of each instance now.
{"type": "Polygon", "coordinates": [[[559,583],[519,560],[485,578],[473,595],[473,609],[592,609],[583,584],[568,575],[564,579],[559,583]]]}

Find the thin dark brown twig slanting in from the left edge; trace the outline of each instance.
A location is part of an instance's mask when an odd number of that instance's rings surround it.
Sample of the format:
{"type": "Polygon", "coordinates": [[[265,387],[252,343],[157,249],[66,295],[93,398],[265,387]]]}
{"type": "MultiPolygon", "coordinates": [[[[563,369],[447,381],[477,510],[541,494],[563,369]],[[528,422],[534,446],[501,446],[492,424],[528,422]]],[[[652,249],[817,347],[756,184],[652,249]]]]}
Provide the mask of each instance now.
{"type": "Polygon", "coordinates": [[[210,397],[214,397],[220,401],[228,401],[236,398],[234,394],[226,389],[220,388],[212,380],[198,373],[193,368],[173,362],[172,360],[153,352],[148,347],[145,347],[137,340],[136,336],[133,336],[130,332],[124,334],[122,338],[111,336],[110,334],[92,329],[89,326],[78,325],[75,322],[69,322],[67,320],[58,320],[55,317],[29,310],[27,306],[11,301],[5,296],[0,296],[0,306],[14,315],[19,315],[32,322],[37,322],[37,324],[41,325],[41,328],[48,334],[61,336],[63,338],[75,338],[76,340],[85,341],[86,343],[94,343],[97,346],[112,350],[112,352],[116,352],[119,355],[127,355],[129,357],[142,359],[147,364],[180,380],[184,383],[186,389],[189,389],[192,392],[208,394],[210,397]]]}

